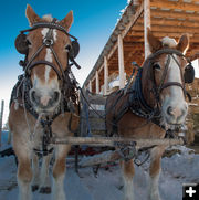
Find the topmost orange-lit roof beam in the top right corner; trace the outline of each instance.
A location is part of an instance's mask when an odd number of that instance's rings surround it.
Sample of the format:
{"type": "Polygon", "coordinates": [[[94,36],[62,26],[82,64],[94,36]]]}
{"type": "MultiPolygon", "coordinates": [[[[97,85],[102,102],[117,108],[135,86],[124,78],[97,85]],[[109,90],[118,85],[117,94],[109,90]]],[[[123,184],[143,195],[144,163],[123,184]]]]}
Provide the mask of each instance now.
{"type": "Polygon", "coordinates": [[[199,12],[199,4],[187,3],[187,2],[175,2],[175,1],[158,1],[150,0],[150,7],[165,8],[165,9],[180,9],[185,11],[196,11],[199,12]]]}

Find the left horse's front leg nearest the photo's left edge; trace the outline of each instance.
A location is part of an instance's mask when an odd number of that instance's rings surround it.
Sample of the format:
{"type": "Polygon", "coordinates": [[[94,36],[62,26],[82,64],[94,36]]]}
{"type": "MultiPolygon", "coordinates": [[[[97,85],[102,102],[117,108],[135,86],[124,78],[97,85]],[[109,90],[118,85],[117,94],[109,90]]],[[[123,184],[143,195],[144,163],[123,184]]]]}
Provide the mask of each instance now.
{"type": "Polygon", "coordinates": [[[31,150],[27,146],[28,143],[20,138],[20,135],[13,134],[13,149],[18,157],[18,186],[19,199],[31,200],[31,150]]]}

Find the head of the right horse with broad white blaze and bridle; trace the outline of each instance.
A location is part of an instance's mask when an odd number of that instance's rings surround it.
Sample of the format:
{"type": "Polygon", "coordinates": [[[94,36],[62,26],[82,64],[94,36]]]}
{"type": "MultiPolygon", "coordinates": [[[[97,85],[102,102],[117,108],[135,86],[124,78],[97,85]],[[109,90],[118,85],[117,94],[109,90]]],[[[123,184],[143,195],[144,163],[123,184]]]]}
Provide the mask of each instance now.
{"type": "Polygon", "coordinates": [[[161,108],[163,124],[167,127],[181,125],[188,112],[184,73],[188,64],[185,53],[189,38],[184,34],[179,42],[168,36],[160,41],[148,30],[148,43],[151,51],[147,59],[149,92],[161,108]]]}

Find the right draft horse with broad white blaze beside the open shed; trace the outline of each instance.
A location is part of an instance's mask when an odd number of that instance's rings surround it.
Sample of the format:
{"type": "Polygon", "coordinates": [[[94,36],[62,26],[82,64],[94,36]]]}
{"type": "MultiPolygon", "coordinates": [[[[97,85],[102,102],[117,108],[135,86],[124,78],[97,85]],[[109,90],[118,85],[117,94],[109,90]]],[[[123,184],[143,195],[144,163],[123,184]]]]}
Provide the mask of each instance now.
{"type": "MultiPolygon", "coordinates": [[[[168,36],[160,41],[148,30],[148,43],[151,54],[146,59],[142,67],[140,91],[144,101],[149,107],[154,109],[159,107],[160,124],[158,126],[157,123],[153,123],[139,115],[139,108],[144,108],[144,113],[147,109],[143,105],[136,110],[138,115],[136,112],[134,114],[130,110],[130,91],[127,91],[126,95],[123,95],[123,91],[114,92],[109,95],[106,103],[108,135],[113,135],[116,128],[117,134],[122,137],[164,138],[166,131],[161,128],[163,126],[165,129],[172,129],[185,123],[188,105],[185,99],[182,74],[187,65],[184,54],[189,45],[188,35],[184,34],[178,43],[168,36]],[[154,92],[155,88],[159,88],[158,94],[154,92]],[[125,112],[124,105],[127,105],[125,112]]],[[[158,179],[160,159],[165,148],[165,146],[156,146],[150,151],[148,200],[160,200],[158,179]]],[[[124,199],[134,200],[133,180],[135,168],[133,159],[122,162],[122,171],[124,199]]]]}

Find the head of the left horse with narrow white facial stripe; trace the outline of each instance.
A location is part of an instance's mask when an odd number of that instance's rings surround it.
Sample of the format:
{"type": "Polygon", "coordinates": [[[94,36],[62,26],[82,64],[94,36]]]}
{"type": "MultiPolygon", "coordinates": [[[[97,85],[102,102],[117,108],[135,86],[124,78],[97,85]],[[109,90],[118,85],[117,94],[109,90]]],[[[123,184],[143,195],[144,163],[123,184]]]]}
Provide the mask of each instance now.
{"type": "Polygon", "coordinates": [[[29,34],[19,36],[15,43],[18,51],[27,54],[24,71],[32,85],[30,101],[38,113],[52,113],[60,104],[65,81],[73,12],[57,21],[51,15],[40,18],[28,6],[25,14],[31,29],[22,31],[29,34]]]}

